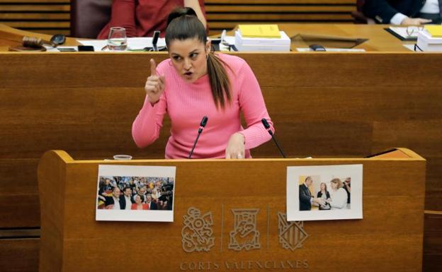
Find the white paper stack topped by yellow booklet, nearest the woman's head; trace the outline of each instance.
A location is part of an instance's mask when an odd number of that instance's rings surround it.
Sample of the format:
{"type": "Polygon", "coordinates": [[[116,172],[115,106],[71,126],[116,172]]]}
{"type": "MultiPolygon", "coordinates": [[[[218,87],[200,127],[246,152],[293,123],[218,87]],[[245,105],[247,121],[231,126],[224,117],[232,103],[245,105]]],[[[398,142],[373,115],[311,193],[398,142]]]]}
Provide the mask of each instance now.
{"type": "Polygon", "coordinates": [[[289,52],[290,37],[277,25],[239,25],[235,46],[238,51],[289,52]]]}

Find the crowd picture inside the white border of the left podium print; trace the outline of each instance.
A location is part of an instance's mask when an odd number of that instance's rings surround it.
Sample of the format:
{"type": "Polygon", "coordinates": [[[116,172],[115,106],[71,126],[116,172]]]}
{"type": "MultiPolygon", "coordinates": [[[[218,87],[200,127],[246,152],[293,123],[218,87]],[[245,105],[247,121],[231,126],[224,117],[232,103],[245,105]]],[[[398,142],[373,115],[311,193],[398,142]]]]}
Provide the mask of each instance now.
{"type": "Polygon", "coordinates": [[[99,176],[98,209],[171,211],[173,177],[99,176]]]}

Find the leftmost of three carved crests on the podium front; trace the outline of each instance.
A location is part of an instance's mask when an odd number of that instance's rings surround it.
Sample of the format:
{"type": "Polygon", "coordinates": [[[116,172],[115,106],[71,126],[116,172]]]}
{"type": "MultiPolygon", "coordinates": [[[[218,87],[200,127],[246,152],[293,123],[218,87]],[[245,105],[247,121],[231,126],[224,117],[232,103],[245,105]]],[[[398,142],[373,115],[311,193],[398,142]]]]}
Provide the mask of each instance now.
{"type": "Polygon", "coordinates": [[[187,214],[183,215],[183,229],[181,230],[181,242],[185,252],[208,252],[215,244],[212,237],[212,213],[201,215],[198,208],[188,208],[187,214]]]}

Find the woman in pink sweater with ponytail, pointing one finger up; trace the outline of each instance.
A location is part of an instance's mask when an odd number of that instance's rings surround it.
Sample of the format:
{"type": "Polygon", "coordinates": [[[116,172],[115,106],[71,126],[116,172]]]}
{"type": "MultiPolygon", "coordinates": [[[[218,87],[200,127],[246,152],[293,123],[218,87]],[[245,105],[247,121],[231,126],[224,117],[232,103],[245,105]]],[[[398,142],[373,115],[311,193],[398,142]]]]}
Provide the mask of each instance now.
{"type": "Polygon", "coordinates": [[[188,158],[201,119],[207,116],[192,158],[251,158],[249,150],[271,138],[261,119],[267,119],[273,131],[253,71],[239,57],[211,52],[205,28],[191,8],[175,10],[168,22],[170,59],[158,66],[150,60],[145,103],[132,124],[135,143],[142,148],[157,140],[167,112],[171,136],[166,158],[188,158]]]}

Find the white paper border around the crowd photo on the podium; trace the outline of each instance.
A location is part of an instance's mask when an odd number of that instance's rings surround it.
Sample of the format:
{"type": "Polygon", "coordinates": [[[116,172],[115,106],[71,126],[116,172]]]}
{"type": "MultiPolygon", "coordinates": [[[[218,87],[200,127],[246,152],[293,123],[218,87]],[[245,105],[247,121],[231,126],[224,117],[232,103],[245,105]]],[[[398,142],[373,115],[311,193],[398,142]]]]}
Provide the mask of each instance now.
{"type": "Polygon", "coordinates": [[[176,167],[174,166],[142,166],[142,165],[98,165],[98,182],[101,176],[115,177],[173,177],[174,178],[174,201],[172,211],[135,211],[135,210],[102,210],[98,209],[96,198],[95,219],[97,221],[149,221],[149,222],[174,222],[176,167]]]}

